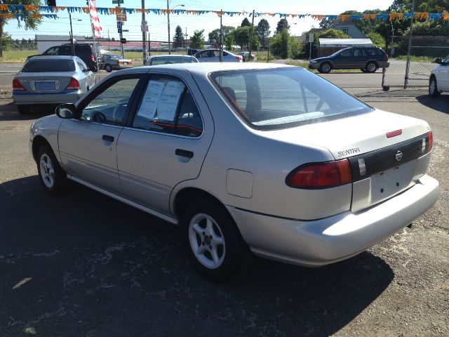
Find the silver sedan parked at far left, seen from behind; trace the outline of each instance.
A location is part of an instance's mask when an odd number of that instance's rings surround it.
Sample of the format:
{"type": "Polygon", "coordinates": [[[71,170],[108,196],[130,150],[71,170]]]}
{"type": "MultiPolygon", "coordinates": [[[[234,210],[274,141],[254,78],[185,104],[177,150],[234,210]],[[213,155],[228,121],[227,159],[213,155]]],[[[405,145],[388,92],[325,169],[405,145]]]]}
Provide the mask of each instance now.
{"type": "Polygon", "coordinates": [[[35,56],[13,79],[13,103],[22,114],[34,105],[75,103],[95,82],[78,56],[35,56]]]}

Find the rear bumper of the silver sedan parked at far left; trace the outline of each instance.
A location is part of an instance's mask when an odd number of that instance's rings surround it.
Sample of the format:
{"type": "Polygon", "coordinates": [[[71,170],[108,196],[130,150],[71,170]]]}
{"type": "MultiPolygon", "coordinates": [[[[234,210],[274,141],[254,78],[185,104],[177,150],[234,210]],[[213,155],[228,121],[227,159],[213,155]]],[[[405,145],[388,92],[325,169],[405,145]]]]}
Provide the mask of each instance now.
{"type": "Polygon", "coordinates": [[[16,105],[75,103],[83,95],[82,91],[63,91],[62,93],[13,93],[16,105]]]}

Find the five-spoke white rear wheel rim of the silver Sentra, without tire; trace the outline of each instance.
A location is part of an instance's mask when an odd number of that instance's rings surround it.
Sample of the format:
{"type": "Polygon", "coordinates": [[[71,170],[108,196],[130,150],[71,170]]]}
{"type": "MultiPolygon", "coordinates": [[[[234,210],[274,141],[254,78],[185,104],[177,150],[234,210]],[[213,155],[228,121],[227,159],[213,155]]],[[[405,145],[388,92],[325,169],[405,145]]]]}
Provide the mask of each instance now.
{"type": "Polygon", "coordinates": [[[198,213],[190,220],[189,242],[196,260],[204,267],[215,269],[225,260],[225,237],[211,216],[198,213]]]}

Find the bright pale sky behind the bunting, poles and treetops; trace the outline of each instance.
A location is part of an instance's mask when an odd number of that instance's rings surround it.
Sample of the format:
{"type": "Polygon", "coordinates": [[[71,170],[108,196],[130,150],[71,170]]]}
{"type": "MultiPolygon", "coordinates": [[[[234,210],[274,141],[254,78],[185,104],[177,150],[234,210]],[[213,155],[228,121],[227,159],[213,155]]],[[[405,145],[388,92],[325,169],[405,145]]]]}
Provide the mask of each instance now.
{"type": "MultiPolygon", "coordinates": [[[[43,3],[43,1],[42,1],[43,3]]],[[[364,11],[367,9],[387,9],[392,3],[392,0],[377,0],[377,1],[363,1],[363,0],[297,0],[297,1],[273,1],[273,0],[226,0],[226,1],[207,1],[207,0],[171,0],[170,8],[181,9],[193,9],[193,10],[210,10],[210,11],[248,11],[253,9],[256,12],[269,12],[269,13],[297,13],[297,14],[340,14],[344,11],[364,11]],[[179,6],[179,5],[185,6],[179,6]]],[[[84,0],[68,1],[68,0],[56,0],[58,6],[86,6],[84,0]]],[[[114,7],[112,0],[97,0],[98,7],[114,7]]],[[[124,0],[123,7],[128,8],[141,8],[141,0],[124,0]]],[[[146,8],[166,8],[166,0],[146,0],[146,8]]],[[[247,15],[248,17],[248,15],[247,15]]],[[[230,17],[228,15],[223,16],[223,25],[238,26],[244,16],[236,15],[230,17]]],[[[272,18],[269,15],[255,18],[254,23],[261,18],[266,19],[269,22],[270,30],[272,34],[276,29],[276,23],[279,21],[279,15],[272,18]]],[[[166,41],[167,40],[167,16],[147,14],[146,20],[149,25],[149,34],[152,41],[166,41]]],[[[248,20],[251,20],[248,17],[248,20]]],[[[124,23],[123,29],[129,29],[130,32],[123,33],[123,36],[128,40],[141,40],[142,33],[140,32],[141,14],[134,13],[128,15],[128,21],[124,23]]],[[[309,30],[312,26],[319,27],[319,21],[312,18],[288,18],[290,24],[290,34],[300,35],[302,32],[309,30]]],[[[89,15],[84,13],[72,14],[72,25],[74,35],[91,35],[91,24],[89,15]],[[81,20],[81,21],[79,21],[81,20]]],[[[119,37],[116,29],[115,15],[100,15],[100,25],[103,28],[103,37],[119,37]]],[[[180,25],[182,30],[187,28],[187,35],[191,35],[196,29],[204,29],[204,37],[208,39],[208,32],[215,28],[220,27],[220,18],[216,14],[180,14],[170,15],[170,35],[173,38],[175,27],[180,25]]],[[[25,30],[23,27],[18,28],[16,20],[9,20],[6,24],[6,32],[11,34],[13,39],[34,39],[35,34],[60,34],[69,35],[69,14],[67,11],[61,11],[58,13],[58,19],[53,20],[49,18],[43,18],[38,30],[25,30]]]]}

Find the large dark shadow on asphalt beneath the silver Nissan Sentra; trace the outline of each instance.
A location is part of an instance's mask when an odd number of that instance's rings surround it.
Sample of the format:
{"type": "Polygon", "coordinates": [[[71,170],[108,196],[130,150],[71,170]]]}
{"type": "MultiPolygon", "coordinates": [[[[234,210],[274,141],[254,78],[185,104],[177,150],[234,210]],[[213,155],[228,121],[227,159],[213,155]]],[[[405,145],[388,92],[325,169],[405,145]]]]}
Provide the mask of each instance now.
{"type": "Polygon", "coordinates": [[[230,284],[192,270],[180,231],[79,185],[0,185],[0,335],[328,336],[394,277],[370,253],[317,269],[255,258],[230,284]]]}

